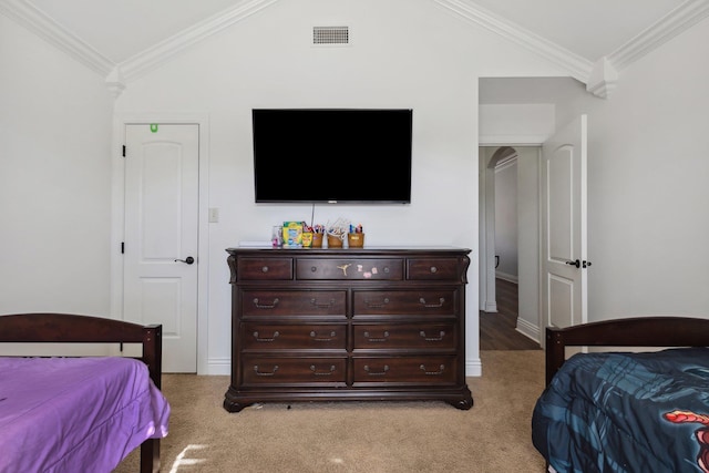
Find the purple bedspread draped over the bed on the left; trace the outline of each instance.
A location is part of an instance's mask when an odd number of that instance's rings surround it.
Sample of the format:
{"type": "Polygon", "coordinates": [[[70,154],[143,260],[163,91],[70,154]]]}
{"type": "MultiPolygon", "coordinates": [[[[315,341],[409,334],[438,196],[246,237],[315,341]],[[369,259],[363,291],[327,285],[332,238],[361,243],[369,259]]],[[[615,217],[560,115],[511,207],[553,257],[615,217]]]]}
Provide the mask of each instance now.
{"type": "Polygon", "coordinates": [[[138,360],[0,357],[2,473],[111,472],[168,419],[138,360]]]}

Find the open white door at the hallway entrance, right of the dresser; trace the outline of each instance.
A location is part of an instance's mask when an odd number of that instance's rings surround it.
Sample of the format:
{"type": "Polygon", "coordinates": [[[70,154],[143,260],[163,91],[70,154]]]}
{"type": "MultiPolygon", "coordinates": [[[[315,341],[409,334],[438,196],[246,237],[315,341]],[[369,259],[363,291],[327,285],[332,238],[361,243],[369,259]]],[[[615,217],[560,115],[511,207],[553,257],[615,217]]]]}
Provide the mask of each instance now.
{"type": "Polygon", "coordinates": [[[586,146],[580,115],[542,146],[542,310],[546,327],[587,321],[586,146]]]}

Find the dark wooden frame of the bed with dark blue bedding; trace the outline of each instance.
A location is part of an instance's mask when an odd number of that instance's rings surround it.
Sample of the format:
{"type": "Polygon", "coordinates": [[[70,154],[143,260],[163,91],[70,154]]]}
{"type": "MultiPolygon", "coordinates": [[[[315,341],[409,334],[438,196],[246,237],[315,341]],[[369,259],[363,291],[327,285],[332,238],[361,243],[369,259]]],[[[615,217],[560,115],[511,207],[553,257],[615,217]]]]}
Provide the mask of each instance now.
{"type": "Polygon", "coordinates": [[[564,364],[566,347],[709,347],[709,319],[636,317],[546,328],[546,384],[564,364]]]}

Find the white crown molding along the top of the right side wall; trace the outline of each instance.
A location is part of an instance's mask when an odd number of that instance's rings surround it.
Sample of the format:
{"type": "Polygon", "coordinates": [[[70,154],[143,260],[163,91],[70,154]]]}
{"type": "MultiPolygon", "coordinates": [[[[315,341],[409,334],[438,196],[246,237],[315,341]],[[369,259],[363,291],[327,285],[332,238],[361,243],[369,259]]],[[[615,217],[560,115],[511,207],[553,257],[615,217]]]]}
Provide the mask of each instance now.
{"type": "Polygon", "coordinates": [[[616,71],[621,71],[648,52],[687,31],[709,16],[709,1],[687,0],[655,24],[607,55],[616,71]]]}

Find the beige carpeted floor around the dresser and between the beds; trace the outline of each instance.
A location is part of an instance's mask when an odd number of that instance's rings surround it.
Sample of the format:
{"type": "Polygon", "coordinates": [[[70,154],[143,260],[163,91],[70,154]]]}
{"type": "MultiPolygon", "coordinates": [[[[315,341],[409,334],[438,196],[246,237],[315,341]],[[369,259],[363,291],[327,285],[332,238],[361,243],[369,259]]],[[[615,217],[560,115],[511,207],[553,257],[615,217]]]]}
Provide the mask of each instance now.
{"type": "MultiPolygon", "coordinates": [[[[228,377],[165,374],[169,435],[162,472],[543,472],[531,414],[543,390],[544,351],[481,351],[469,378],[474,405],[322,402],[222,408],[228,377]]],[[[132,453],[115,473],[137,472],[132,453]]]]}

